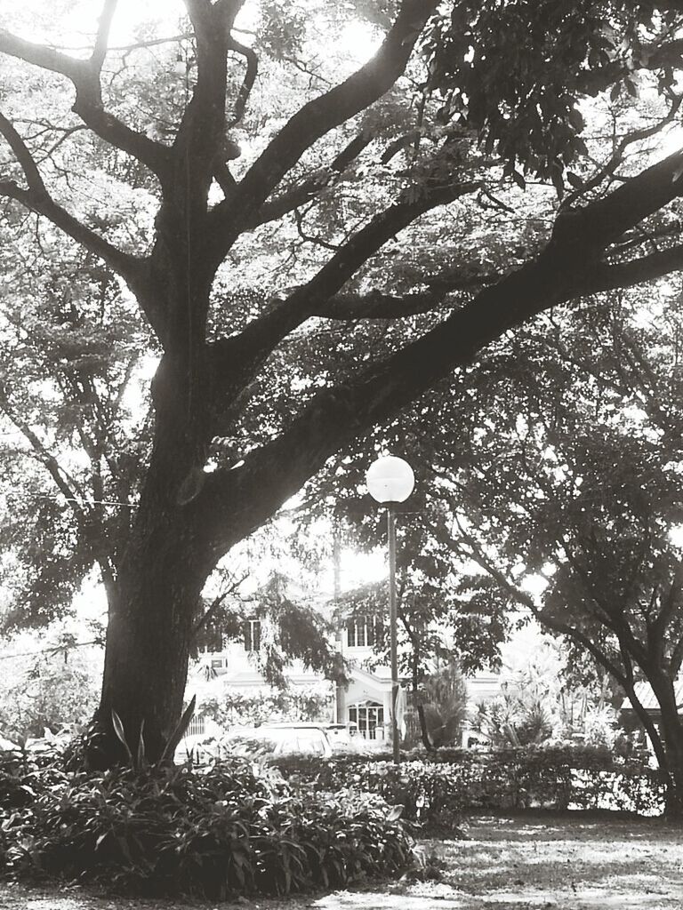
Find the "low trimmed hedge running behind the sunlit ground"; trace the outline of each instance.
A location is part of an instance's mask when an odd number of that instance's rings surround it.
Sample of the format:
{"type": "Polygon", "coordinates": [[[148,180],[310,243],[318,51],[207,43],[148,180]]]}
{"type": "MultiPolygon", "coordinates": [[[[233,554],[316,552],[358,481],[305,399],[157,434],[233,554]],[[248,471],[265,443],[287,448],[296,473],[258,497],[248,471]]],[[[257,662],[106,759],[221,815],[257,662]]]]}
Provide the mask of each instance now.
{"type": "Polygon", "coordinates": [[[464,812],[481,809],[610,809],[659,814],[664,785],[638,759],[618,758],[604,748],[525,746],[478,752],[443,749],[399,767],[388,758],[345,756],[321,764],[289,758],[278,763],[288,778],[334,791],[344,784],[381,794],[405,807],[405,817],[443,827],[464,812]]]}

